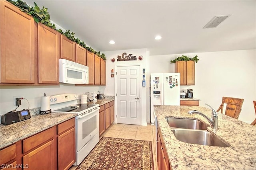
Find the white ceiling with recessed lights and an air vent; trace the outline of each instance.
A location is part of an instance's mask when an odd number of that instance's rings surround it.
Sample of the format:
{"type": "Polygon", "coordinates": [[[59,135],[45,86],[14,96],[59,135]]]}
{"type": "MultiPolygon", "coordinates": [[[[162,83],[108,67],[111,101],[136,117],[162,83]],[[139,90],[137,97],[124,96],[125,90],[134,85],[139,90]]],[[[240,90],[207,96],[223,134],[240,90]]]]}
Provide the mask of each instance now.
{"type": "Polygon", "coordinates": [[[53,22],[96,51],[146,48],[150,55],[168,55],[256,49],[256,0],[24,1],[48,8],[53,22]],[[214,16],[227,14],[216,28],[203,29],[214,16]]]}

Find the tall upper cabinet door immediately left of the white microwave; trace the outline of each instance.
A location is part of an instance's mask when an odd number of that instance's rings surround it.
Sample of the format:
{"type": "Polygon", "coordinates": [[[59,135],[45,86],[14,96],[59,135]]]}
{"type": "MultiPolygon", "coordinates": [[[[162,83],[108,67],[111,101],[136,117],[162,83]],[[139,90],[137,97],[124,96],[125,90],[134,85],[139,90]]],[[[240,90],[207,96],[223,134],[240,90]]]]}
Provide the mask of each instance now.
{"type": "Polygon", "coordinates": [[[38,83],[59,84],[60,33],[38,23],[38,83]]]}

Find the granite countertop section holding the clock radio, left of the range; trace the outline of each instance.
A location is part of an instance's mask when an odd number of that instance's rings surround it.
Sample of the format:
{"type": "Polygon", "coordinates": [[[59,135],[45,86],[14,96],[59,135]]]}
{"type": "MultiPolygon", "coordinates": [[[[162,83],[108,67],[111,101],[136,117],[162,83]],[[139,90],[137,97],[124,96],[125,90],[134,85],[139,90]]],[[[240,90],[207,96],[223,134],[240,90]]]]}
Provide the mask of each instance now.
{"type": "Polygon", "coordinates": [[[69,120],[76,115],[76,113],[31,115],[30,119],[13,123],[11,125],[0,124],[0,148],[35,135],[36,133],[69,120]]]}

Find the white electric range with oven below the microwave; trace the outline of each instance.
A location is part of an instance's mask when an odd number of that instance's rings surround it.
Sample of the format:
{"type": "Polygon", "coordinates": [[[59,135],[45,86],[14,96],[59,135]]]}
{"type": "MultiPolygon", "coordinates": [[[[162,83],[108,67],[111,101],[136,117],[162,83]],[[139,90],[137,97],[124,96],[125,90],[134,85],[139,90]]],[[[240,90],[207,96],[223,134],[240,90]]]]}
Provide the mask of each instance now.
{"type": "Polygon", "coordinates": [[[76,113],[76,162],[79,165],[100,140],[99,105],[78,104],[78,95],[50,96],[52,112],[76,113]]]}

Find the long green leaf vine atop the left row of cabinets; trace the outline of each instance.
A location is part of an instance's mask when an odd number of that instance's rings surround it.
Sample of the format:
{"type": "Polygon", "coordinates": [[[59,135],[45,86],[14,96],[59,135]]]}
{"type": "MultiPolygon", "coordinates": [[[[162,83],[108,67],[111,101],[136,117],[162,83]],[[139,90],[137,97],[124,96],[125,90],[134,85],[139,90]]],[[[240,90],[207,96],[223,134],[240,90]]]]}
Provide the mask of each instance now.
{"type": "MultiPolygon", "coordinates": [[[[50,14],[47,11],[48,8],[44,8],[44,6],[43,6],[43,8],[40,9],[38,7],[38,5],[36,4],[36,2],[34,2],[34,7],[30,7],[26,2],[23,2],[22,0],[17,0],[17,1],[7,0],[7,1],[14,4],[18,8],[20,8],[20,10],[22,12],[26,12],[26,14],[32,16],[34,18],[34,21],[36,21],[36,23],[41,22],[44,25],[46,25],[48,27],[51,27],[52,29],[57,30],[56,26],[54,24],[52,24],[51,21],[50,21],[50,14]]],[[[74,41],[74,42],[78,43],[79,45],[81,45],[82,47],[87,49],[88,51],[90,51],[90,52],[98,55],[102,59],[106,60],[106,57],[105,57],[104,53],[100,54],[100,51],[97,52],[96,50],[92,49],[92,47],[86,46],[84,41],[80,41],[80,39],[76,38],[75,33],[70,32],[70,30],[67,30],[67,31],[63,32],[62,29],[58,29],[57,31],[59,33],[65,35],[71,41],[74,41]]]]}

